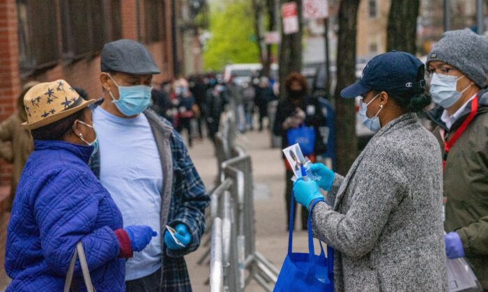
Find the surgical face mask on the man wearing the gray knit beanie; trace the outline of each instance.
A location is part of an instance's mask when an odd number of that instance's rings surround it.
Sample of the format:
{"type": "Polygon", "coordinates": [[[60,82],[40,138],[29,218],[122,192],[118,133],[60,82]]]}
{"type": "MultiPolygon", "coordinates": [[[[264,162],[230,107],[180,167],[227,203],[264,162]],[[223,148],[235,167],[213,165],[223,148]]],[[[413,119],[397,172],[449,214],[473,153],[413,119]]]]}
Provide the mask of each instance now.
{"type": "Polygon", "coordinates": [[[434,102],[443,108],[450,108],[454,105],[461,98],[463,92],[471,87],[470,84],[462,92],[457,91],[457,81],[462,78],[464,78],[464,75],[457,78],[457,76],[434,73],[430,81],[429,90],[434,102]]]}

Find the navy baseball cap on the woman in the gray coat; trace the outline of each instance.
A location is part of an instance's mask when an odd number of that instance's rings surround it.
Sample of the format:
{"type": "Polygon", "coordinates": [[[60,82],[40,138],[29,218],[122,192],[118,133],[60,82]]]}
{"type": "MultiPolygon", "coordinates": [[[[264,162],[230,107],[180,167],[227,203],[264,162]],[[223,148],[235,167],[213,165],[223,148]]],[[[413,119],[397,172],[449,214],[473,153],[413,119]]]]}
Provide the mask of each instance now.
{"type": "Polygon", "coordinates": [[[361,79],[341,90],[341,97],[354,98],[370,90],[415,93],[425,88],[425,65],[412,54],[390,51],[367,63],[361,79]]]}

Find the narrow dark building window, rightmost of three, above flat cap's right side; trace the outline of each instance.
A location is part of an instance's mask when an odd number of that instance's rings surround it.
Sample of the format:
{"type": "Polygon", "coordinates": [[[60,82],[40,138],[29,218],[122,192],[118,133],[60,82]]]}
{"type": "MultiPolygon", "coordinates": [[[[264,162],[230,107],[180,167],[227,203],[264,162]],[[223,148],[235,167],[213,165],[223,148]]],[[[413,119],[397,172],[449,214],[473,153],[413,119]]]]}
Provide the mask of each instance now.
{"type": "MultiPolygon", "coordinates": [[[[162,1],[144,0],[144,42],[158,42],[161,40],[163,23],[162,1]]],[[[164,29],[163,29],[164,30],[164,29]]]]}

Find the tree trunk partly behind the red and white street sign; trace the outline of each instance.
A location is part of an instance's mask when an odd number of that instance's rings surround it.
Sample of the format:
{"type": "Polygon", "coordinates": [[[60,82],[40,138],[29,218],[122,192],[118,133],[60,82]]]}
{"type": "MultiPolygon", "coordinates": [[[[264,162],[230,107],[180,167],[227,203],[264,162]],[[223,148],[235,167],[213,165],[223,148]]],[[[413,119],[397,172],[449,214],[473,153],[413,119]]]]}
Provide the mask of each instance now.
{"type": "MultiPolygon", "coordinates": [[[[280,3],[287,3],[289,0],[280,0],[280,3]]],[[[302,1],[296,0],[298,8],[298,33],[285,35],[281,30],[280,44],[280,98],[284,98],[284,81],[291,72],[302,70],[302,1]]],[[[280,6],[281,11],[281,6],[280,6]]],[[[282,17],[280,18],[282,19],[282,17]]]]}

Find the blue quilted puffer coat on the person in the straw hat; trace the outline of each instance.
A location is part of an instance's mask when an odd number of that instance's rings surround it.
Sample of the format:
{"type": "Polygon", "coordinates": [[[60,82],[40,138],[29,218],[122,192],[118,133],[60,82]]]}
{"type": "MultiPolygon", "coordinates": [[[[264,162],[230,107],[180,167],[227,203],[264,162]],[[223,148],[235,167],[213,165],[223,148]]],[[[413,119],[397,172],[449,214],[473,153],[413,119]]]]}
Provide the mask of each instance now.
{"type": "MultiPolygon", "coordinates": [[[[93,147],[35,140],[8,224],[6,291],[63,291],[75,246],[82,241],[97,291],[125,291],[125,259],[114,230],[122,216],[87,163],[93,147]]],[[[75,282],[84,291],[82,270],[75,282]]]]}

